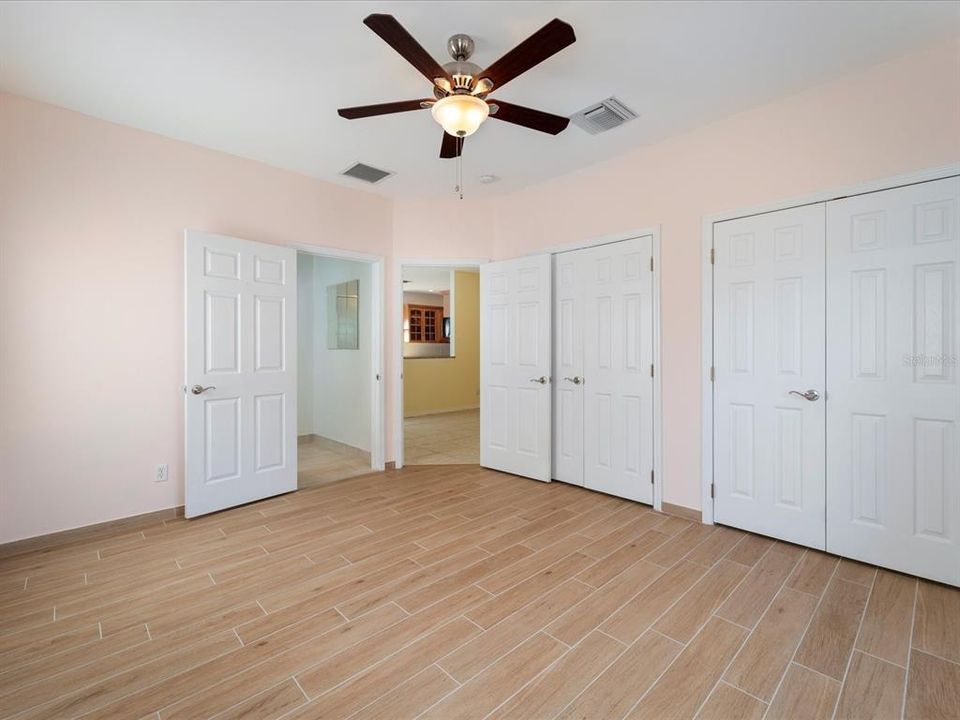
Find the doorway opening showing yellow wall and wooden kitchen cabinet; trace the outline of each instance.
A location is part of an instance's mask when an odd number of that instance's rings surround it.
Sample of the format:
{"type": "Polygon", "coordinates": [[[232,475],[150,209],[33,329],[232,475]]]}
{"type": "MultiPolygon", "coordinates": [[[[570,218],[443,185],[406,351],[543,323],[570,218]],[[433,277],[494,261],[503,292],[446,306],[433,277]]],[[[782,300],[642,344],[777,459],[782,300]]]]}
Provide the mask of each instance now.
{"type": "Polygon", "coordinates": [[[398,276],[397,465],[479,464],[478,265],[410,261],[398,276]]]}

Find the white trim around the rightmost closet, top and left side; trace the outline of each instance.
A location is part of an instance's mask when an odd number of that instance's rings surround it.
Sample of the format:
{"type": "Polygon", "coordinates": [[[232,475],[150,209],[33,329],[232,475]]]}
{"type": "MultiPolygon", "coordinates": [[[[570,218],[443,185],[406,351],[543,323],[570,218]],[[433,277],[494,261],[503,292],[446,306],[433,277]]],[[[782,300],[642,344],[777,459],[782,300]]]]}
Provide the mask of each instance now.
{"type": "Polygon", "coordinates": [[[710,262],[710,251],[713,249],[713,226],[726,220],[737,220],[752,215],[789,210],[803,205],[826,203],[831,200],[840,200],[851,195],[866,195],[882,190],[892,190],[905,185],[942,180],[960,175],[960,163],[940,165],[916,172],[893,175],[880,180],[869,180],[852,185],[822,190],[809,195],[776,200],[761,205],[753,205],[739,210],[704,215],[701,222],[700,241],[700,382],[701,382],[701,435],[700,435],[700,492],[702,522],[713,525],[715,499],[710,497],[710,486],[713,484],[713,383],[710,381],[710,368],[713,367],[713,265],[710,262]]]}

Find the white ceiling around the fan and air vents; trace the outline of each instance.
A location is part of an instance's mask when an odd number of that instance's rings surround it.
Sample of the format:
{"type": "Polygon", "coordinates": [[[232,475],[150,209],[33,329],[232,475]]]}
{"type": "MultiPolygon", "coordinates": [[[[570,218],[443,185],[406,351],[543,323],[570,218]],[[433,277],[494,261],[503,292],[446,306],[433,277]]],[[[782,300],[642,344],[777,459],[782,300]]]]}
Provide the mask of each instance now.
{"type": "Polygon", "coordinates": [[[440,62],[466,32],[485,65],[553,17],[577,42],[493,97],[570,115],[616,95],[640,118],[556,137],[490,120],[466,145],[480,197],[592,164],[960,32],[956,2],[4,2],[0,89],[375,192],[452,195],[428,112],[336,108],[429,95],[362,19],[388,12],[440,62]],[[480,185],[481,174],[502,178],[480,185]]]}

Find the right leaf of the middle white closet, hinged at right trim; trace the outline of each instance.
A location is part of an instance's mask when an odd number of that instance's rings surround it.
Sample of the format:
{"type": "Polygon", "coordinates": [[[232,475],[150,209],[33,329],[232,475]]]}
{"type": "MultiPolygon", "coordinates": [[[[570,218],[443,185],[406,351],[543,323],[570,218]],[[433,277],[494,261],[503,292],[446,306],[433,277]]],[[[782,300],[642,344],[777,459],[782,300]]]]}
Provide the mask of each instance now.
{"type": "Polygon", "coordinates": [[[653,503],[652,253],[650,236],[575,253],[583,307],[583,485],[644,503],[653,503]]]}

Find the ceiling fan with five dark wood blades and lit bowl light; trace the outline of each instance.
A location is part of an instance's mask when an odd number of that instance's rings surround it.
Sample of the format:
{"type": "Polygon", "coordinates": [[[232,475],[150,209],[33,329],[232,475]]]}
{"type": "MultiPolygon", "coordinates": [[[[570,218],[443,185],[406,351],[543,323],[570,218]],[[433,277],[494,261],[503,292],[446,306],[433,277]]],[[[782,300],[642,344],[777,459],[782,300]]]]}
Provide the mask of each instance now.
{"type": "Polygon", "coordinates": [[[433,84],[433,97],[340,108],[337,113],[341,117],[355,120],[430,108],[434,120],[444,130],[442,158],[459,157],[463,139],[476,132],[487,117],[551,135],[562,132],[570,122],[542,110],[487,99],[494,90],[576,41],[573,28],[562,20],[554,18],[486,69],[470,62],[474,42],[468,35],[454,35],[447,41],[453,61],[440,65],[392,15],[369,15],[363,24],[433,84]]]}

